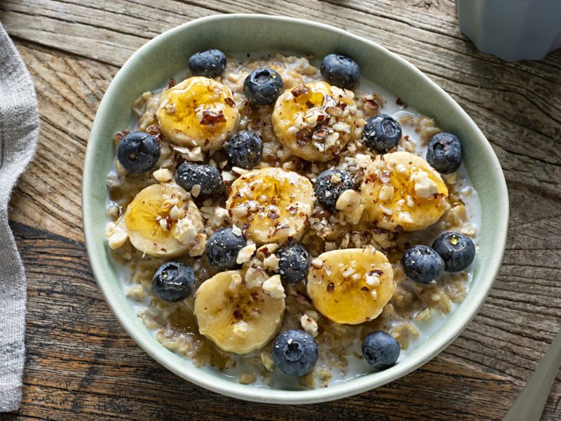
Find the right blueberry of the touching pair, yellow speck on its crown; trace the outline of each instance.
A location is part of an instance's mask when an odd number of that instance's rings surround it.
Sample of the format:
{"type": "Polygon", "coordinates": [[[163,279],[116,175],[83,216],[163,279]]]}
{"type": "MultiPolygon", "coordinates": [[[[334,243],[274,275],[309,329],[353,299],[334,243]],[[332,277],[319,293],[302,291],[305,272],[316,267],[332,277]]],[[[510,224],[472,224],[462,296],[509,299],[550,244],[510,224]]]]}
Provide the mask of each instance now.
{"type": "Polygon", "coordinates": [[[446,272],[466,269],[475,259],[475,245],[471,238],[459,232],[445,232],[433,242],[433,248],[446,266],[446,272]]]}

